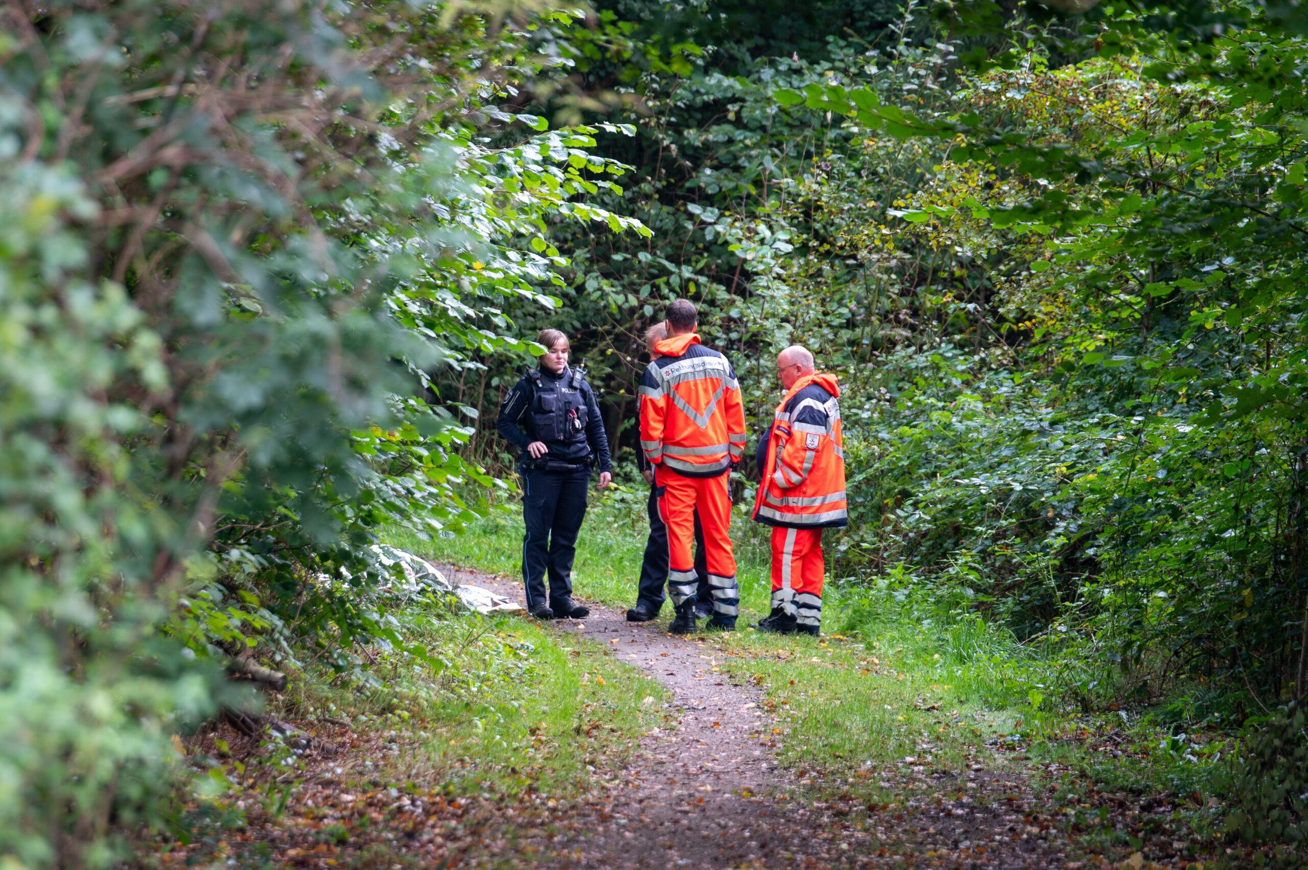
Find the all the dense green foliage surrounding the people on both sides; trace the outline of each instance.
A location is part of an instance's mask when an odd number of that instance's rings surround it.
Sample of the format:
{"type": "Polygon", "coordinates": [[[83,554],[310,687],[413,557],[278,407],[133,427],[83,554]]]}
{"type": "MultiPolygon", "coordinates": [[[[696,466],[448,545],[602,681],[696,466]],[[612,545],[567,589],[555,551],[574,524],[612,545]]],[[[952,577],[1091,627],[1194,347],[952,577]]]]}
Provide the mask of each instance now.
{"type": "Polygon", "coordinates": [[[510,487],[545,324],[629,446],[678,296],[753,420],[781,347],[841,374],[841,578],[1040,642],[1067,706],[1304,695],[1298,7],[3,16],[0,856],[166,823],[234,657],[439,666],[377,530],[510,487]]]}

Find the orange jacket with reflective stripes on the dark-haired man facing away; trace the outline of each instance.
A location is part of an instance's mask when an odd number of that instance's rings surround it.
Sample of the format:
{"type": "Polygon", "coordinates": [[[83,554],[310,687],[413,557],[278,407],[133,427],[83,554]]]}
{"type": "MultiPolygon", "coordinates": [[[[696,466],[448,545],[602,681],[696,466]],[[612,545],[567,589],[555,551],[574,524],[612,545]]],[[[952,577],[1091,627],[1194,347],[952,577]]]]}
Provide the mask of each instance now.
{"type": "Polygon", "coordinates": [[[717,478],[744,455],[744,404],[725,356],[689,332],[654,345],[641,375],[641,449],[651,464],[717,478]]]}

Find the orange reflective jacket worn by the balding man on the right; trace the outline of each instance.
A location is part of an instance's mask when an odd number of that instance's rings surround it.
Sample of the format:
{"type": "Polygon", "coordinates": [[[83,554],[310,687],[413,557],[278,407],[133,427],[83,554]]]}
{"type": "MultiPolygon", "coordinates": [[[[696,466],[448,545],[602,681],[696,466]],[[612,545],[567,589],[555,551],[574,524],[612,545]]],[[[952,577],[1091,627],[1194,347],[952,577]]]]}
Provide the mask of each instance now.
{"type": "Polygon", "coordinates": [[[795,381],[772,419],[753,518],[786,529],[849,525],[835,374],[795,381]]]}

